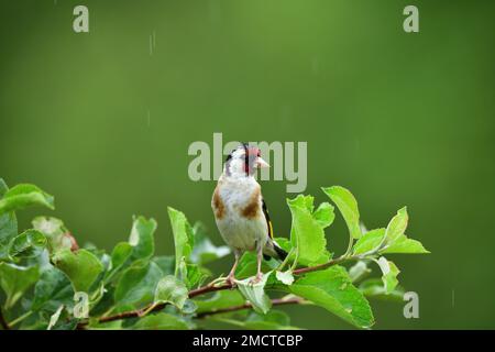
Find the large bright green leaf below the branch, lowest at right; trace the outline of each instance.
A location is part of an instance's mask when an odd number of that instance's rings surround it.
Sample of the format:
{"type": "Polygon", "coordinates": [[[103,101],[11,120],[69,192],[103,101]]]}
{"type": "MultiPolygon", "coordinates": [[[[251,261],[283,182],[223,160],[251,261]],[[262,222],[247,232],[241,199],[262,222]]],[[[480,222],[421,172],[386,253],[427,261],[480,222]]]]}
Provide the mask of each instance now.
{"type": "Polygon", "coordinates": [[[355,288],[342,266],[308,273],[287,289],[323,307],[336,316],[359,328],[370,328],[374,318],[370,304],[355,288]]]}

